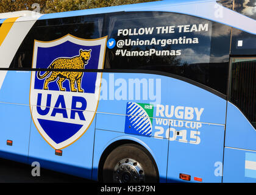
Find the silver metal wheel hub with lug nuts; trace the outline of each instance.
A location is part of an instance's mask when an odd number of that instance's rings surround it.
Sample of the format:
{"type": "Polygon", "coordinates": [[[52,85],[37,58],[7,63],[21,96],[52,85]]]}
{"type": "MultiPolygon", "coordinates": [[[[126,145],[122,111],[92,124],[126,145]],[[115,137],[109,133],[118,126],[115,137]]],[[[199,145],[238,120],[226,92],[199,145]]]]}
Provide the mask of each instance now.
{"type": "Polygon", "coordinates": [[[115,183],[141,183],[144,182],[144,170],[140,163],[131,159],[120,160],[113,170],[115,183]]]}

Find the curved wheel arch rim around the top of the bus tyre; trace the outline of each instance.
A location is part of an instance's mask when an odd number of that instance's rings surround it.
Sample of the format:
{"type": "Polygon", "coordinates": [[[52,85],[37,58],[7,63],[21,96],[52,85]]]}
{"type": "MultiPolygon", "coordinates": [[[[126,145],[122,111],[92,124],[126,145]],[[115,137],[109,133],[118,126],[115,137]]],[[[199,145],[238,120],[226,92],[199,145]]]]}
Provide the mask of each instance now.
{"type": "Polygon", "coordinates": [[[153,165],[155,166],[155,169],[157,171],[157,179],[159,181],[158,166],[157,166],[157,163],[155,162],[154,154],[152,153],[151,149],[142,141],[137,141],[137,140],[135,141],[135,140],[127,139],[127,138],[112,141],[112,143],[108,144],[108,146],[105,147],[104,151],[101,154],[101,158],[99,159],[98,181],[102,182],[102,168],[103,168],[104,162],[105,162],[106,158],[108,157],[108,155],[110,154],[110,152],[112,152],[116,147],[122,146],[124,144],[135,144],[135,145],[138,145],[138,146],[141,146],[144,148],[144,150],[149,155],[149,157],[152,158],[153,165]]]}

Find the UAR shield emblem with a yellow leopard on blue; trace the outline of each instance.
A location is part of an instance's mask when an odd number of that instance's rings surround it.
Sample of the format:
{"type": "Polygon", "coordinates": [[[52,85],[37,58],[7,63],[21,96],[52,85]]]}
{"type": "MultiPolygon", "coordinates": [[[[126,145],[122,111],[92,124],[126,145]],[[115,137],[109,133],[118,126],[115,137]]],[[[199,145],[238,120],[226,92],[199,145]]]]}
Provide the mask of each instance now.
{"type": "Polygon", "coordinates": [[[99,103],[107,37],[66,35],[34,43],[30,112],[40,135],[54,149],[73,144],[88,130],[99,103]],[[84,71],[85,69],[85,71],[84,71]],[[66,70],[66,71],[65,71],[66,70]]]}

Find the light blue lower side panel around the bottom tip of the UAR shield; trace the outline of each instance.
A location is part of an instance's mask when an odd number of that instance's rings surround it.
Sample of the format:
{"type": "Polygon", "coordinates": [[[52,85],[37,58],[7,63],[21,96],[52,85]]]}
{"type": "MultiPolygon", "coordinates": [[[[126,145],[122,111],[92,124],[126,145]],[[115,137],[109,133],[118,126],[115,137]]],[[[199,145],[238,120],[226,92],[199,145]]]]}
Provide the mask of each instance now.
{"type": "MultiPolygon", "coordinates": [[[[33,107],[33,112],[35,109],[36,108],[33,107]]],[[[84,112],[84,114],[86,116],[87,112],[84,112]]],[[[91,179],[94,129],[95,118],[84,135],[73,144],[61,149],[62,156],[59,156],[55,155],[55,149],[44,140],[32,121],[29,144],[29,163],[38,161],[43,168],[91,179]]]]}

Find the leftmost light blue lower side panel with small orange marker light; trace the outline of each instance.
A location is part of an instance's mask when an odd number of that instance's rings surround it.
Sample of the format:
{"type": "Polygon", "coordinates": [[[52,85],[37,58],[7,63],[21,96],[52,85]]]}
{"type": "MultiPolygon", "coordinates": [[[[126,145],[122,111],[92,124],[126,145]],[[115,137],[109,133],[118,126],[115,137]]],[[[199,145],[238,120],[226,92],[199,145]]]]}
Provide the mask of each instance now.
{"type": "Polygon", "coordinates": [[[31,121],[29,106],[0,103],[0,110],[4,111],[0,112],[1,157],[27,163],[31,121]],[[7,140],[13,142],[12,146],[7,145],[7,140]]]}

